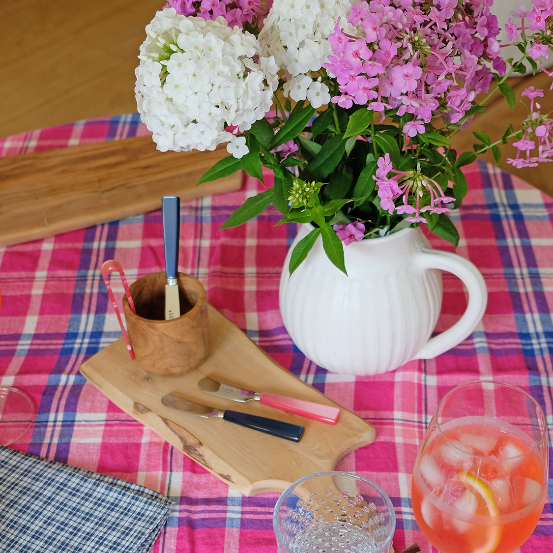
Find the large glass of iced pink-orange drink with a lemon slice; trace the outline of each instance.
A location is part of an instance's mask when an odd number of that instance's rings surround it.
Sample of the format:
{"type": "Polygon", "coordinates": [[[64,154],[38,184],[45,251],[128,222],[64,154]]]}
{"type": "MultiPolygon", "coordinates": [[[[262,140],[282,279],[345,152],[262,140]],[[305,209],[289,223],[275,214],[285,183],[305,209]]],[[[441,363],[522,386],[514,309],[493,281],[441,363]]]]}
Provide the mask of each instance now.
{"type": "Polygon", "coordinates": [[[547,496],[547,426],[534,398],[500,382],[448,392],[425,432],[411,497],[441,553],[513,553],[547,496]]]}

